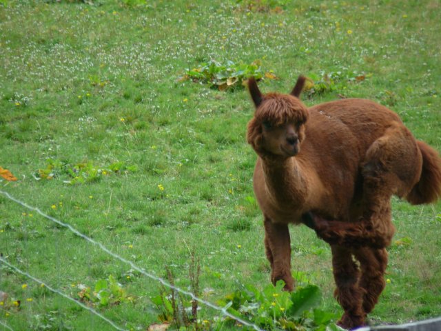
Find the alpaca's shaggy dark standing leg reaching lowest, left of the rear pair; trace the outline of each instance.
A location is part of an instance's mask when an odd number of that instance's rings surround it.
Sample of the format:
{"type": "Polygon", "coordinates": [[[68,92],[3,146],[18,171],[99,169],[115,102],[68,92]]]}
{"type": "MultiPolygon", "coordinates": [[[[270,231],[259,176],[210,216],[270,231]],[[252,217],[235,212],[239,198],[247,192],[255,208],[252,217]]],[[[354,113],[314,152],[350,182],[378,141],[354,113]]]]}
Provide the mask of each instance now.
{"type": "Polygon", "coordinates": [[[347,248],[332,245],[332,266],[336,281],[336,297],[342,306],[343,314],[338,325],[352,329],[365,324],[365,312],[362,309],[362,289],[358,286],[360,271],[347,248]]]}

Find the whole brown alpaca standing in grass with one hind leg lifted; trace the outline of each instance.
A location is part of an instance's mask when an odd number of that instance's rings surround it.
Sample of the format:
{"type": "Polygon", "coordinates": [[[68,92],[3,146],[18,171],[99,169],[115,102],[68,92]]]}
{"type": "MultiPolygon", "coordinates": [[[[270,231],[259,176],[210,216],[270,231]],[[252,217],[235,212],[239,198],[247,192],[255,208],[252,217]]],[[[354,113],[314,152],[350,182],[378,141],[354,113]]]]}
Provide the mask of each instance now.
{"type": "Polygon", "coordinates": [[[262,94],[254,79],[248,83],[256,112],[247,141],[258,154],[254,192],[271,281],[294,289],[288,224],[305,223],[331,245],[335,297],[345,310],[339,324],[356,328],[384,289],[391,196],[413,204],[438,199],[441,158],[373,101],[307,108],[298,99],[304,83],[300,76],[291,94],[262,94]]]}

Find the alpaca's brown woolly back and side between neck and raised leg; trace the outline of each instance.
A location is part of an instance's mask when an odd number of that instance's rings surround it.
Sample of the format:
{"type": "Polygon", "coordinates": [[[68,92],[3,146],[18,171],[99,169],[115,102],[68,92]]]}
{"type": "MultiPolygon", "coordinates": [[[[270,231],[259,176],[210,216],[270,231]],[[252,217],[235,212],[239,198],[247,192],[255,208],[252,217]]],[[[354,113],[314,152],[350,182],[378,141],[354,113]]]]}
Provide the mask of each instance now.
{"type": "MultiPolygon", "coordinates": [[[[311,209],[347,219],[361,199],[361,168],[367,150],[391,126],[404,128],[398,115],[365,99],[344,99],[309,108],[306,138],[298,157],[316,172],[324,190],[312,192],[311,209]]],[[[413,137],[411,137],[413,139],[413,137]]],[[[416,143],[409,144],[416,148],[416,143]]],[[[411,185],[415,175],[411,174],[411,185]]],[[[407,192],[411,190],[411,186],[407,192]]]]}

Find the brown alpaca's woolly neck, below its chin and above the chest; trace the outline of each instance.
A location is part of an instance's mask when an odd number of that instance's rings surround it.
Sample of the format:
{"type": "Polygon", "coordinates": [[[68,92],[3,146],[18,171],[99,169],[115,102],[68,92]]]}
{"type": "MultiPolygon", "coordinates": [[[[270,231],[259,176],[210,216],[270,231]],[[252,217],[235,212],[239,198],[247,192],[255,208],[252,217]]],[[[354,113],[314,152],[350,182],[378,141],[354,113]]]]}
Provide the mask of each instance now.
{"type": "Polygon", "coordinates": [[[262,159],[265,184],[269,196],[278,205],[301,205],[307,198],[307,180],[295,157],[262,159]]]}

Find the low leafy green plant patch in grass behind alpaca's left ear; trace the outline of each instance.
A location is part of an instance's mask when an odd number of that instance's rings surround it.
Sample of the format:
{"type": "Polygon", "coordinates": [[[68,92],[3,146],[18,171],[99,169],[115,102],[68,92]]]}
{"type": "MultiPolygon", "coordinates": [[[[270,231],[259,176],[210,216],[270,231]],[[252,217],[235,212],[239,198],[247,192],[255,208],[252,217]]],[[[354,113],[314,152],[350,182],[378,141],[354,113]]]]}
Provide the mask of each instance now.
{"type": "Polygon", "coordinates": [[[221,64],[211,60],[203,63],[199,68],[189,69],[185,72],[179,81],[192,80],[194,82],[208,83],[212,88],[219,90],[232,90],[243,88],[244,82],[249,77],[256,80],[268,78],[276,79],[276,75],[269,71],[264,72],[260,61],[254,61],[251,64],[234,63],[227,61],[221,64]]]}

